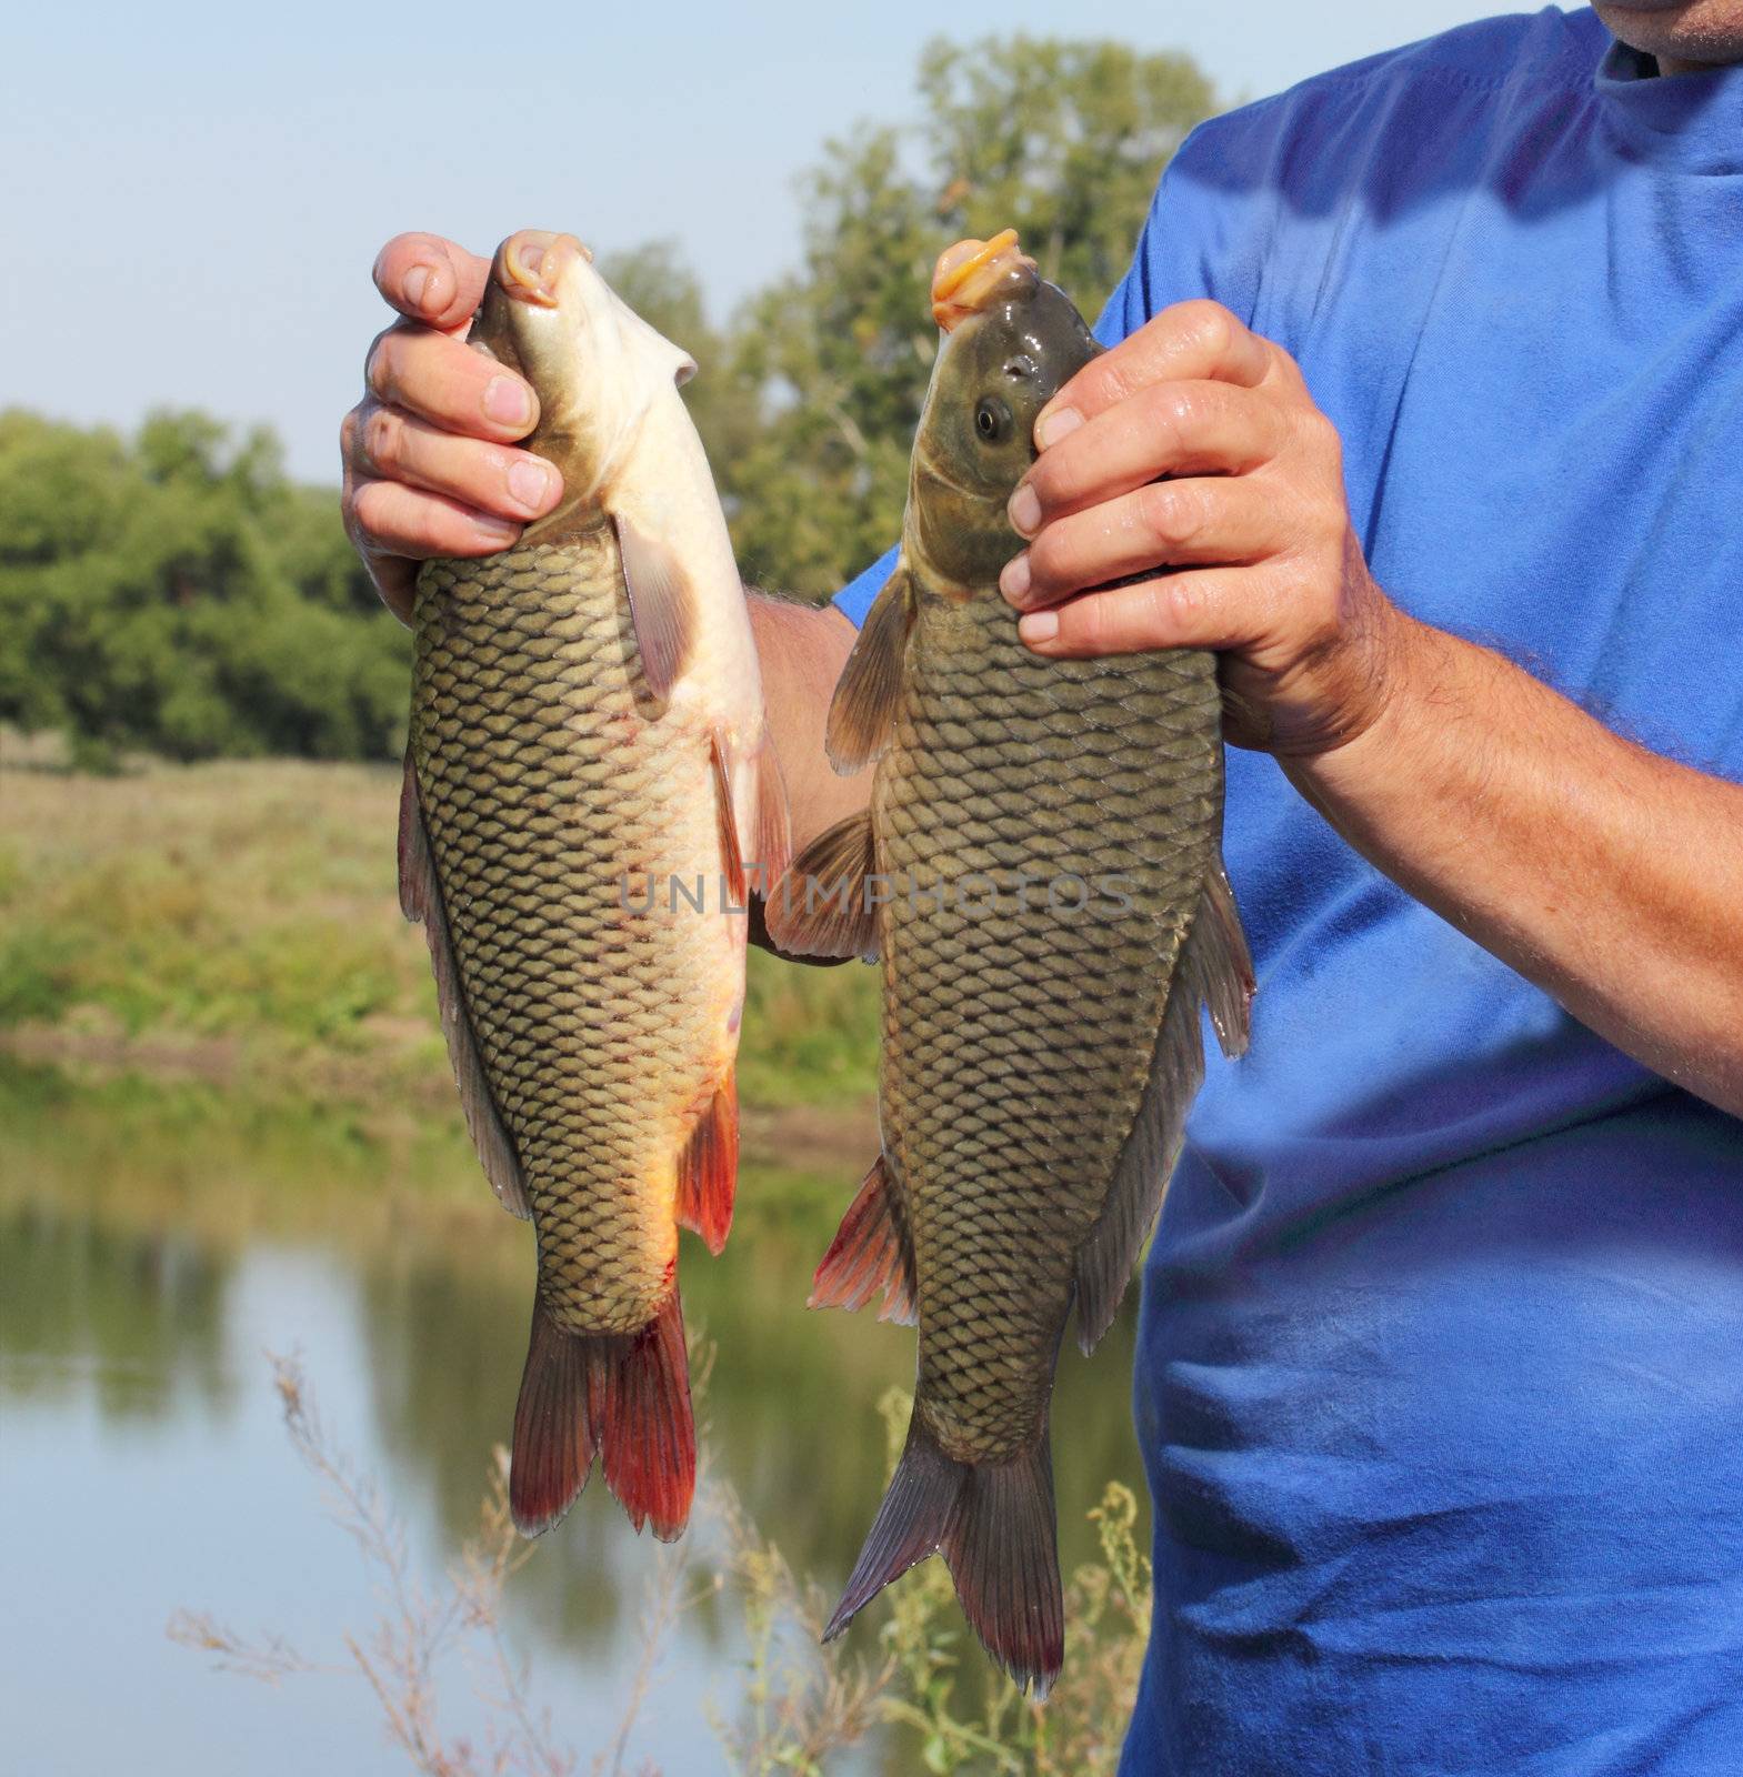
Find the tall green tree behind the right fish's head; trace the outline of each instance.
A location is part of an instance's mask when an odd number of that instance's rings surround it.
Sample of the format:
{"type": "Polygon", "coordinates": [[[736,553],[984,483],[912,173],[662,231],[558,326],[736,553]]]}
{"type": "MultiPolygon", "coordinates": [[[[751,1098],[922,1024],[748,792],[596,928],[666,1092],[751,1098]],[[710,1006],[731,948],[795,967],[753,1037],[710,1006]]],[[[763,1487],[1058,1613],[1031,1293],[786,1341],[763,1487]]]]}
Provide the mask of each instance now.
{"type": "Polygon", "coordinates": [[[895,538],[936,350],[938,252],[1016,227],[1093,316],[1162,167],[1215,108],[1187,57],[1116,43],[936,41],[919,87],[911,139],[862,126],[828,144],[807,181],[800,272],[736,327],[734,371],[762,423],[716,471],[755,581],[823,595],[895,538]]]}

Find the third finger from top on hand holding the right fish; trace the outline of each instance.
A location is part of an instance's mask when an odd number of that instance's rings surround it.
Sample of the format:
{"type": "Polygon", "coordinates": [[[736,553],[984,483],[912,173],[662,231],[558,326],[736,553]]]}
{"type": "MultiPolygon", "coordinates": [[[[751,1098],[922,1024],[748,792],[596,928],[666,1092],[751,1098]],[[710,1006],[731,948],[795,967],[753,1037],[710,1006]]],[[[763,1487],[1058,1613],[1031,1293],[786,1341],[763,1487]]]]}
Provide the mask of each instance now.
{"type": "Polygon", "coordinates": [[[1027,611],[1153,567],[1258,562],[1286,542],[1276,498],[1246,476],[1153,482],[1048,524],[999,588],[1027,611]]]}

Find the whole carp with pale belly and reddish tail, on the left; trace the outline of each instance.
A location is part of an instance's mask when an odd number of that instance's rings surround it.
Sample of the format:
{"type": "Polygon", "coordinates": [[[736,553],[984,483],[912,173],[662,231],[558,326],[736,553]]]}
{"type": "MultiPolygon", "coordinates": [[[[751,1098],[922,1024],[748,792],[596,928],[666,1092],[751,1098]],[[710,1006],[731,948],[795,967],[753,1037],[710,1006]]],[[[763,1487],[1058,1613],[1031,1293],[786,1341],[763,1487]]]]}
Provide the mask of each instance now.
{"type": "Polygon", "coordinates": [[[554,1525],[595,1454],[677,1535],[695,1430],[677,1230],[737,1171],[744,892],[787,814],[689,357],[574,236],[497,249],[478,350],[537,389],[563,499],[418,578],[400,894],[490,1183],[538,1244],[510,1496],[554,1525]]]}

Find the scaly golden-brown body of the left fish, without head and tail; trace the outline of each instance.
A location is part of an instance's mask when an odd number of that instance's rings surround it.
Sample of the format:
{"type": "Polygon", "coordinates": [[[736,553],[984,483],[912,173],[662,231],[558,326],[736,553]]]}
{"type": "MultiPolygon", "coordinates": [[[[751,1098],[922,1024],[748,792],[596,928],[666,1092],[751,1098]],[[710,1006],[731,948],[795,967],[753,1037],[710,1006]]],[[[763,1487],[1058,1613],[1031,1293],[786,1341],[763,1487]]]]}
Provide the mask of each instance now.
{"type": "Polygon", "coordinates": [[[659,892],[718,855],[709,737],[650,730],[604,528],[432,563],[416,622],[412,755],[540,1297],[633,1333],[672,1292],[675,1159],[730,1011],[730,931],[659,892]]]}

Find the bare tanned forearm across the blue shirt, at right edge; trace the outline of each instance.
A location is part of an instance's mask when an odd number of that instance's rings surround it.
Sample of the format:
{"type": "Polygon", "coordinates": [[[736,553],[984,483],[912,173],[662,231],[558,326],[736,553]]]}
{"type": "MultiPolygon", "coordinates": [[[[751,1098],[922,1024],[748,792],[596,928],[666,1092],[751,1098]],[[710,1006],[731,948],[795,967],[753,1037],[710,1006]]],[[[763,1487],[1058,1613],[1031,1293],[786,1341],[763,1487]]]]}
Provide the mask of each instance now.
{"type": "Polygon", "coordinates": [[[1402,615],[1356,739],[1283,768],[1357,851],[1647,1066],[1743,1114],[1743,787],[1402,615]]]}

